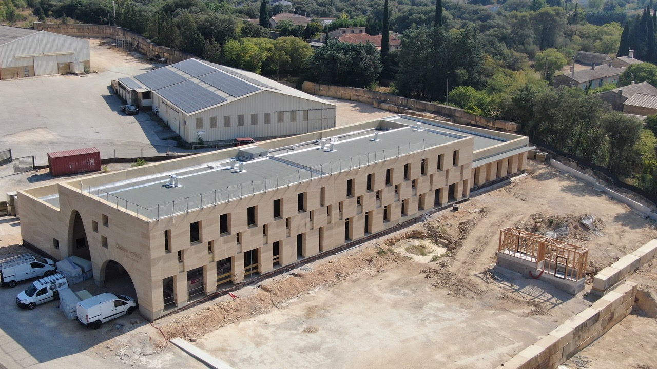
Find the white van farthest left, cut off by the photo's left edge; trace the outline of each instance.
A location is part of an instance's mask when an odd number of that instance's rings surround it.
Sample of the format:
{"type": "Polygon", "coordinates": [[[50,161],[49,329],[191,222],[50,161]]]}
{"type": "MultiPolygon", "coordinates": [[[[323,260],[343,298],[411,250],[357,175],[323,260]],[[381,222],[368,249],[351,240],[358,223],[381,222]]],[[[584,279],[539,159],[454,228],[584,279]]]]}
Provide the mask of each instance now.
{"type": "Polygon", "coordinates": [[[55,274],[55,261],[26,253],[0,261],[0,283],[16,287],[22,280],[55,274]]]}

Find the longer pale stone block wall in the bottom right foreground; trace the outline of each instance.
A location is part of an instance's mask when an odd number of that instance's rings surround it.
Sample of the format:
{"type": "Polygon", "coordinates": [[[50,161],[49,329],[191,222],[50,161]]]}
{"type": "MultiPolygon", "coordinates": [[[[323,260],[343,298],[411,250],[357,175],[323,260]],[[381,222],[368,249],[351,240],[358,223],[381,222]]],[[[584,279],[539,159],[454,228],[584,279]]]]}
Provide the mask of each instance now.
{"type": "Polygon", "coordinates": [[[629,315],[638,285],[625,282],[497,369],[555,369],[629,315]]]}

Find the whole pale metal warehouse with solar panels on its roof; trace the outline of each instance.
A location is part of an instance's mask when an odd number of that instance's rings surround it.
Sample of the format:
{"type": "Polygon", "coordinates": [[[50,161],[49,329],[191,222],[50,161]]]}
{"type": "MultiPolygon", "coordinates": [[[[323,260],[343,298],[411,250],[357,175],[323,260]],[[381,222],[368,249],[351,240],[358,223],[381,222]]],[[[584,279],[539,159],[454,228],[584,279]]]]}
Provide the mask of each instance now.
{"type": "Polygon", "coordinates": [[[335,127],[336,106],[322,98],[196,59],[120,78],[118,93],[129,104],[157,110],[185,142],[281,137],[335,127]]]}

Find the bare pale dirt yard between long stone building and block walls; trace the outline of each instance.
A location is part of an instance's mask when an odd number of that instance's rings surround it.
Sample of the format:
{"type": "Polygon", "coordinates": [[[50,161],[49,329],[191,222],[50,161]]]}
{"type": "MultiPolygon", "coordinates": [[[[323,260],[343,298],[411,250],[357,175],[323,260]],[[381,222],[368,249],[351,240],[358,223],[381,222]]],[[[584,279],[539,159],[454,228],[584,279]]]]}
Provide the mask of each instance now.
{"type": "MultiPolygon", "coordinates": [[[[530,162],[526,176],[472,196],[461,210],[428,219],[438,244],[413,238],[426,230],[417,225],[158,326],[198,338],[233,368],[495,368],[594,301],[489,274],[500,228],[558,232],[591,250],[592,270],[657,236],[653,222],[545,163],[530,162]]],[[[623,356],[610,368],[630,357],[657,367],[645,353],[632,356],[635,345],[655,344],[633,338],[620,342],[623,356]]]]}

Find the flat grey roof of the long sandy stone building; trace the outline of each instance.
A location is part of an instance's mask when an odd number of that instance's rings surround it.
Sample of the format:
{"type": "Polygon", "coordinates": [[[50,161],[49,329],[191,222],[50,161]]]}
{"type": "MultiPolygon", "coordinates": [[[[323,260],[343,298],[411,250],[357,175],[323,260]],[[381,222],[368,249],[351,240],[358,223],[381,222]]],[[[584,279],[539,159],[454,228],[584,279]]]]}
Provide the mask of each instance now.
{"type": "MultiPolygon", "coordinates": [[[[470,137],[474,151],[510,141],[466,126],[409,116],[393,116],[380,119],[376,126],[357,127],[354,129],[361,130],[325,131],[335,135],[330,138],[323,135],[323,142],[269,146],[270,154],[265,158],[248,161],[242,161],[241,157],[224,158],[215,162],[208,159],[206,163],[196,162],[194,166],[84,190],[98,196],[101,202],[118,204],[147,219],[158,219],[470,137]],[[422,123],[420,130],[417,123],[422,123]],[[240,164],[242,171],[239,170],[240,164]],[[177,176],[178,186],[175,183],[170,185],[173,181],[171,175],[177,176]]],[[[257,147],[248,146],[246,149],[257,147]]],[[[216,160],[216,156],[214,158],[216,160]]],[[[59,206],[57,194],[44,196],[41,200],[59,206]]]]}

